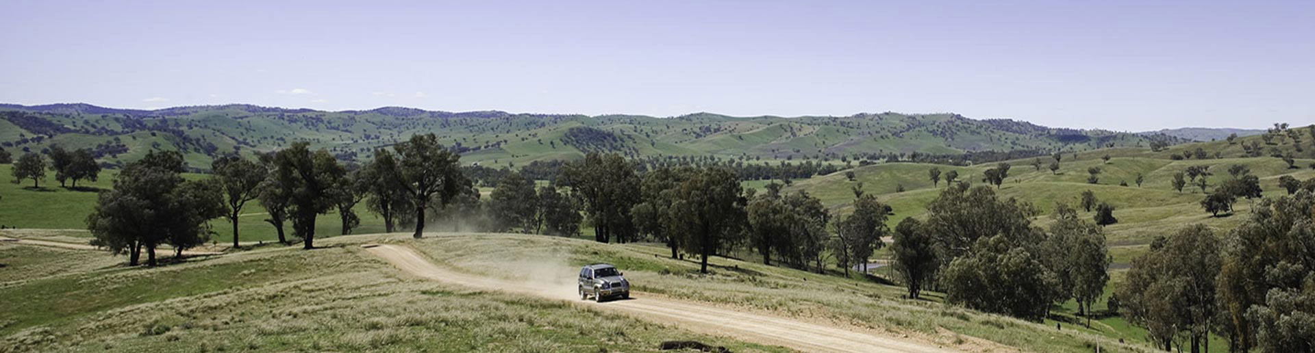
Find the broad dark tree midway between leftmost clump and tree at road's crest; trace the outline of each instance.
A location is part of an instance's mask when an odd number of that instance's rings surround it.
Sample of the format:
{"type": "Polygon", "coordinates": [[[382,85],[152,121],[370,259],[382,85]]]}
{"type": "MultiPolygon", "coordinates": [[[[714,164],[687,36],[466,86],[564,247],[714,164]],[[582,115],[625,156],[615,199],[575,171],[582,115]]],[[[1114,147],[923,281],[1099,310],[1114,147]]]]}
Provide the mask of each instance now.
{"type": "Polygon", "coordinates": [[[326,150],[310,151],[306,142],[274,154],[277,165],[271,171],[272,186],[288,198],[292,234],[302,240],[304,249],[314,248],[316,218],[333,210],[335,188],[347,169],[326,150]]]}

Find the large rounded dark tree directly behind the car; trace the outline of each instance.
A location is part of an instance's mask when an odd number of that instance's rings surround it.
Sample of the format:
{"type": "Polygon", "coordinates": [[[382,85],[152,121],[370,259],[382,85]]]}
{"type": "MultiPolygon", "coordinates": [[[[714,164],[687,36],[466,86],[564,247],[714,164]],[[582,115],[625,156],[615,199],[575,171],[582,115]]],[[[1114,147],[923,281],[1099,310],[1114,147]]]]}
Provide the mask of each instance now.
{"type": "Polygon", "coordinates": [[[617,154],[585,155],[584,160],[562,167],[558,182],[571,186],[580,197],[585,213],[594,226],[594,240],[608,243],[613,238],[625,243],[634,234],[630,210],[639,203],[639,177],[634,167],[617,154]]]}

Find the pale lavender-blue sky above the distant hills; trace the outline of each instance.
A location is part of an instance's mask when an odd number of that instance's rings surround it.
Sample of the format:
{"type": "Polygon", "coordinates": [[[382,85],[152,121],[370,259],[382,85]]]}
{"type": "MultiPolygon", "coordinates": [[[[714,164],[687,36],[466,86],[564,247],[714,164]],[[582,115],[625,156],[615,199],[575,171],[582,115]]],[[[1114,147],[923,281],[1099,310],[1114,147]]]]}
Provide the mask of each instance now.
{"type": "Polygon", "coordinates": [[[1315,1],[0,1],[0,102],[1315,123],[1315,1]]]}

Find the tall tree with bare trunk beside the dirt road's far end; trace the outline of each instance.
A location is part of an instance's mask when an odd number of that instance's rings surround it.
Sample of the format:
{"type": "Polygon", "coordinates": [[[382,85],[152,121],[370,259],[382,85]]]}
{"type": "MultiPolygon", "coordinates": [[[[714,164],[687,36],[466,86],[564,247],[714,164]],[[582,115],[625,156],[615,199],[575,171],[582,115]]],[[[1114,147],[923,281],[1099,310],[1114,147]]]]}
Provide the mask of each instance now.
{"type": "Polygon", "coordinates": [[[425,214],[438,202],[438,209],[447,207],[458,194],[472,188],[471,181],[462,175],[458,163],[460,155],[452,154],[438,143],[434,134],[416,134],[409,140],[393,146],[397,152],[397,180],[410,194],[416,210],[416,234],[425,234],[425,214]]]}

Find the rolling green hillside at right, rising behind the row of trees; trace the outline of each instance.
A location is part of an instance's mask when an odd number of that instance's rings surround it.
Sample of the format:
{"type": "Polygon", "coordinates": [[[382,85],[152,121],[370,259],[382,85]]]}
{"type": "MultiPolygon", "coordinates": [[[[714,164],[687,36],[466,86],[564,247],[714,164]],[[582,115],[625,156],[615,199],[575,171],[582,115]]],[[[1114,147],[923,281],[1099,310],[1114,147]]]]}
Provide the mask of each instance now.
{"type": "MultiPolygon", "coordinates": [[[[1304,127],[1302,129],[1304,130],[1304,127]]],[[[1302,134],[1306,134],[1302,131],[1302,134]]],[[[1306,139],[1308,146],[1310,139],[1306,139]]],[[[1184,172],[1189,167],[1210,167],[1211,175],[1206,177],[1207,192],[1212,192],[1215,185],[1224,182],[1232,176],[1227,169],[1231,165],[1247,167],[1251,175],[1260,178],[1260,186],[1265,197],[1286,194],[1278,185],[1282,176],[1293,176],[1298,180],[1315,178],[1315,148],[1303,147],[1301,152],[1293,142],[1265,144],[1260,135],[1239,138],[1230,144],[1226,140],[1201,142],[1181,146],[1172,146],[1164,151],[1151,151],[1149,148],[1103,148],[1077,154],[1064,154],[1060,168],[1055,172],[1047,167],[1051,157],[1040,157],[1044,164],[1040,169],[1032,167],[1034,159],[1009,160],[1011,168],[1009,177],[1001,185],[998,193],[1003,197],[1013,197],[1027,201],[1039,213],[1035,217],[1038,224],[1049,222],[1049,213],[1056,202],[1068,203],[1077,207],[1081,193],[1091,190],[1099,201],[1115,206],[1115,218],[1119,223],[1106,227],[1109,244],[1115,248],[1115,262],[1126,261],[1145,249],[1147,244],[1156,236],[1178,230],[1185,224],[1201,223],[1219,231],[1227,231],[1241,223],[1244,217],[1211,217],[1202,210],[1199,202],[1205,197],[1198,186],[1189,185],[1178,192],[1173,189],[1170,181],[1173,175],[1184,172]],[[1287,161],[1276,156],[1243,156],[1241,144],[1260,143],[1268,148],[1278,151],[1281,155],[1297,155],[1290,168],[1287,161]],[[1206,151],[1207,159],[1173,159],[1173,155],[1191,152],[1197,148],[1206,151]],[[1215,154],[1222,157],[1214,157],[1215,154]],[[1110,155],[1105,161],[1102,156],[1110,155]],[[1099,181],[1088,184],[1088,169],[1097,167],[1101,169],[1099,181]],[[1136,185],[1137,176],[1143,176],[1141,185],[1136,185]],[[1120,186],[1127,182],[1128,186],[1120,186]]],[[[882,163],[853,168],[855,180],[851,181],[844,172],[818,176],[809,180],[800,180],[786,186],[786,192],[807,192],[838,213],[848,213],[853,201],[852,188],[861,182],[865,193],[876,194],[878,199],[888,203],[894,215],[888,220],[888,226],[894,227],[899,220],[909,217],[920,217],[926,213],[927,205],[936,198],[945,181],[942,180],[939,188],[932,188],[928,169],[938,168],[944,176],[945,172],[956,171],[961,182],[982,185],[982,172],[995,168],[998,163],[985,163],[970,167],[953,167],[919,163],[882,163]],[[896,192],[902,185],[905,192],[896,192]]],[[[753,184],[761,188],[761,182],[753,184]]],[[[1239,199],[1235,205],[1235,214],[1251,211],[1251,202],[1239,199]]],[[[1093,217],[1080,209],[1082,217],[1093,217]]]]}

